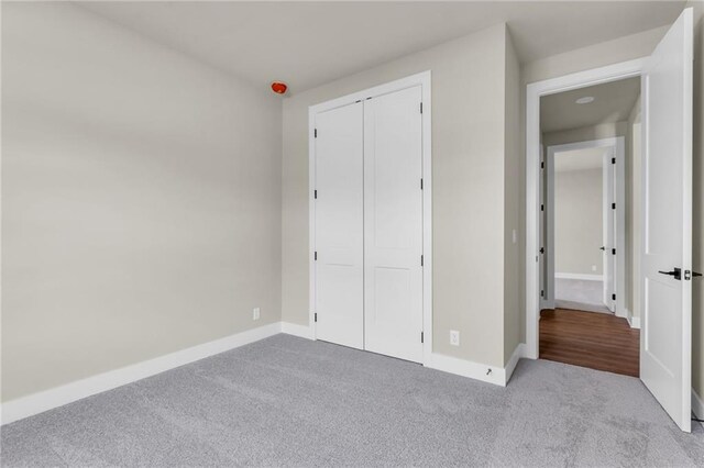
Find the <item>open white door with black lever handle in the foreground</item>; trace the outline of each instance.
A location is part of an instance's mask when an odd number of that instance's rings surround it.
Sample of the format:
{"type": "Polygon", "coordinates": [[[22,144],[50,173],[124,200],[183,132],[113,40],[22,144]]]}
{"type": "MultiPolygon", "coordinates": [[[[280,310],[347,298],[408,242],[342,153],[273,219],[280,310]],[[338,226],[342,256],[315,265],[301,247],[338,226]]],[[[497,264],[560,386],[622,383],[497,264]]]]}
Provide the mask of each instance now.
{"type": "Polygon", "coordinates": [[[692,9],[649,57],[642,76],[644,238],[640,378],[691,431],[692,9]]]}

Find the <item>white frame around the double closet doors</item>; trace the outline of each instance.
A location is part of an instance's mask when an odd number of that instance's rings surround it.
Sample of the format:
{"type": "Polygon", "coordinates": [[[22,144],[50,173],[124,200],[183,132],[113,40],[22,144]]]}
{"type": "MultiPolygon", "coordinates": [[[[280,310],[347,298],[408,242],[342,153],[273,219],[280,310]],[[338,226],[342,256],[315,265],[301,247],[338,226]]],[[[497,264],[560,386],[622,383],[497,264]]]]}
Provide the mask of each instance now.
{"type": "Polygon", "coordinates": [[[353,92],[308,108],[308,272],[309,272],[309,315],[310,337],[317,339],[316,327],[316,114],[354,102],[364,101],[415,86],[421,87],[422,113],[422,364],[430,364],[432,354],[432,126],[431,126],[431,76],[430,70],[400,78],[384,85],[353,92]]]}

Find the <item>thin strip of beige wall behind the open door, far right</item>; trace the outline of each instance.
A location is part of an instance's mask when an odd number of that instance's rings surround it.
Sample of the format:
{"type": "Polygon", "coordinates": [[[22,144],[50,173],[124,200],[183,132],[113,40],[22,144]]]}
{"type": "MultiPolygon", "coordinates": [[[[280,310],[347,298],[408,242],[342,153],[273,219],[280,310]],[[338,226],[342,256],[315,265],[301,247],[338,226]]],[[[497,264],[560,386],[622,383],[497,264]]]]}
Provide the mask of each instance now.
{"type": "MultiPolygon", "coordinates": [[[[693,267],[704,271],[704,3],[691,1],[694,7],[694,232],[693,267]]],[[[704,280],[695,280],[692,327],[692,387],[704,398],[704,280]]],[[[702,414],[698,414],[701,417],[702,414]]]]}

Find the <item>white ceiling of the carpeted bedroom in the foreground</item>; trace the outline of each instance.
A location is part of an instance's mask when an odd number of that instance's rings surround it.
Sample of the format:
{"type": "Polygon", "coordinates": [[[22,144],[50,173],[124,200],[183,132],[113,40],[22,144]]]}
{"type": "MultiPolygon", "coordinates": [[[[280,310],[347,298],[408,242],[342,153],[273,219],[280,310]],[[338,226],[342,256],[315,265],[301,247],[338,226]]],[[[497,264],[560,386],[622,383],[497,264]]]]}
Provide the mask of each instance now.
{"type": "Polygon", "coordinates": [[[292,92],[507,22],[529,62],[670,24],[684,1],[78,2],[266,88],[292,92]]]}

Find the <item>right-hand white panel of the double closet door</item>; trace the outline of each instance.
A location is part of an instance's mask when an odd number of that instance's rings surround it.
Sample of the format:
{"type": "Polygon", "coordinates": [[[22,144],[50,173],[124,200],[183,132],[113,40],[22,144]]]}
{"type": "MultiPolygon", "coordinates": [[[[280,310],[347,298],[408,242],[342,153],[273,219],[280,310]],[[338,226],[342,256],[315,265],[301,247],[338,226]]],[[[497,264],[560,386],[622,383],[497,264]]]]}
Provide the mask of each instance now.
{"type": "Polygon", "coordinates": [[[364,101],[364,345],[422,361],[421,87],[364,101]]]}

